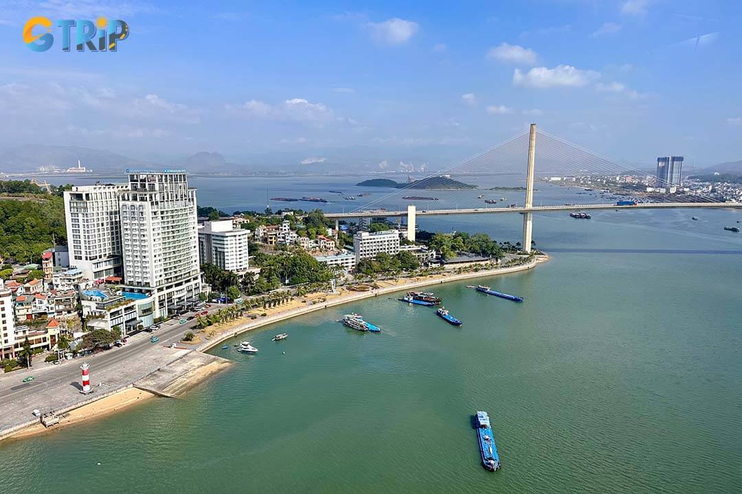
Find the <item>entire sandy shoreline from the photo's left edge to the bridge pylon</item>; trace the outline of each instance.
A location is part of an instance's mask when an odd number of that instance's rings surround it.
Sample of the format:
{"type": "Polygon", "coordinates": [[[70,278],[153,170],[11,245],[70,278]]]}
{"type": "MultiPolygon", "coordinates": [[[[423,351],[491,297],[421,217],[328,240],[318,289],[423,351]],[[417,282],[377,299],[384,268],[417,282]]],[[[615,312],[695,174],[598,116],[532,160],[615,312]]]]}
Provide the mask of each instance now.
{"type": "MultiPolygon", "coordinates": [[[[450,281],[462,281],[471,278],[485,278],[487,276],[519,273],[521,271],[531,270],[538,264],[541,264],[542,262],[546,262],[548,260],[549,256],[542,255],[536,256],[533,261],[527,264],[521,264],[519,266],[513,267],[500,267],[473,273],[442,273],[441,275],[432,276],[430,278],[411,278],[404,279],[403,281],[381,281],[379,283],[388,285],[374,290],[369,290],[367,292],[343,293],[339,296],[335,296],[335,298],[326,299],[323,302],[301,305],[293,309],[287,310],[286,307],[283,307],[283,310],[278,310],[277,313],[270,316],[266,316],[259,320],[251,319],[247,322],[237,324],[234,327],[228,327],[220,331],[220,333],[214,335],[212,338],[209,338],[208,340],[203,341],[200,344],[190,347],[189,350],[191,351],[188,352],[186,356],[194,352],[206,356],[206,351],[217,346],[218,344],[221,344],[223,341],[229,338],[234,338],[242,333],[246,333],[260,327],[268,326],[269,324],[279,323],[291,318],[314,313],[318,310],[324,310],[329,307],[336,307],[338,305],[348,304],[350,302],[361,301],[366,298],[386,295],[387,293],[410,290],[418,287],[426,287],[434,284],[444,284],[450,281]]],[[[328,297],[329,296],[332,295],[328,295],[328,297]]],[[[309,300],[309,298],[310,297],[305,298],[305,300],[309,300]]],[[[172,361],[163,367],[168,367],[169,365],[174,364],[177,361],[181,361],[184,357],[185,356],[177,358],[175,361],[172,361]]],[[[95,398],[91,398],[91,401],[77,404],[76,406],[71,407],[68,410],[60,410],[61,413],[59,414],[59,424],[56,424],[55,426],[47,428],[44,427],[40,421],[38,421],[24,427],[19,427],[19,429],[17,430],[7,432],[2,438],[0,438],[0,441],[4,441],[6,439],[12,441],[34,437],[37,435],[53,433],[56,430],[64,428],[65,425],[79,424],[80,422],[89,419],[105,417],[119,412],[120,410],[129,408],[134,404],[148,401],[151,398],[157,398],[158,396],[175,397],[175,394],[168,393],[172,390],[172,388],[175,388],[177,390],[177,394],[185,393],[185,391],[190,390],[192,387],[203,381],[206,381],[206,379],[210,378],[216,373],[219,373],[226,367],[228,366],[226,366],[225,364],[210,362],[208,364],[203,364],[200,367],[187,370],[181,375],[178,375],[176,378],[174,378],[173,381],[170,381],[169,384],[171,386],[168,385],[168,387],[165,388],[164,393],[161,393],[158,390],[154,389],[149,390],[144,386],[137,387],[137,382],[145,380],[145,378],[142,378],[132,382],[131,384],[121,387],[118,390],[113,390],[106,395],[96,396],[95,398]]]]}

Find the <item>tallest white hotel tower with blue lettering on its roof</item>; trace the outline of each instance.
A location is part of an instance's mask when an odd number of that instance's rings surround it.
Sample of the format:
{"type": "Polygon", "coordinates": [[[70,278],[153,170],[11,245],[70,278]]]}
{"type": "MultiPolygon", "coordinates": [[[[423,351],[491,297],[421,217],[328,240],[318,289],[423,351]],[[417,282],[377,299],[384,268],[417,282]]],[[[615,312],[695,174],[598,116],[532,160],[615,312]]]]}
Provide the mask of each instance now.
{"type": "Polygon", "coordinates": [[[196,189],[188,187],[185,170],[129,173],[120,210],[127,291],[154,296],[156,317],[197,301],[196,189]]]}

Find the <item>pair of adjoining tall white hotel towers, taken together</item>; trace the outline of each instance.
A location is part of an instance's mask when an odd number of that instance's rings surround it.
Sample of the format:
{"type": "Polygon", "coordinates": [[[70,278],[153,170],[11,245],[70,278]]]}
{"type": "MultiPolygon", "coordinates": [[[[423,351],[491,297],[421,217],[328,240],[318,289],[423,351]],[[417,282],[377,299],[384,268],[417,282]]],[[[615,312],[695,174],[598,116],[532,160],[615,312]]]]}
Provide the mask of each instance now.
{"type": "Polygon", "coordinates": [[[166,316],[201,290],[196,189],[185,170],[128,177],[65,192],[70,265],[90,280],[123,276],[127,293],[152,296],[154,316],[166,316]]]}

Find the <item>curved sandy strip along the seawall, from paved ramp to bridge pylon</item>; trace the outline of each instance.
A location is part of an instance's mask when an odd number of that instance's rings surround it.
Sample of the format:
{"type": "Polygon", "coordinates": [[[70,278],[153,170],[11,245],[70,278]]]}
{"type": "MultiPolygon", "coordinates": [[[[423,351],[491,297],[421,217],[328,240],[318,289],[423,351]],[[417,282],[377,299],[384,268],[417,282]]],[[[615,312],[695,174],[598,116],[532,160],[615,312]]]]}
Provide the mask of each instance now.
{"type": "MultiPolygon", "coordinates": [[[[536,256],[533,261],[527,264],[521,264],[519,266],[499,267],[492,270],[482,270],[474,273],[443,273],[431,278],[411,278],[411,281],[409,279],[405,279],[403,282],[393,282],[390,286],[377,288],[375,290],[369,290],[367,292],[345,293],[341,296],[338,296],[337,298],[328,299],[321,303],[306,305],[292,310],[281,310],[278,313],[275,313],[271,316],[266,316],[265,318],[262,318],[260,320],[251,320],[242,324],[237,324],[234,327],[229,327],[226,330],[221,331],[217,335],[214,335],[213,338],[209,338],[207,341],[199,344],[197,347],[194,348],[194,350],[206,352],[208,350],[211,350],[211,348],[217,346],[218,344],[221,344],[223,341],[229,338],[234,338],[242,333],[247,333],[248,331],[255,330],[263,326],[268,326],[269,324],[286,321],[288,319],[303,316],[305,314],[313,313],[318,310],[324,310],[329,307],[336,307],[342,304],[349,304],[350,302],[361,301],[365,298],[372,298],[380,295],[386,295],[387,293],[394,293],[402,290],[409,290],[412,288],[426,287],[433,284],[444,284],[450,281],[462,281],[470,278],[484,278],[487,276],[519,273],[521,271],[531,270],[538,264],[549,261],[549,259],[550,258],[548,255],[543,254],[541,256],[536,256]]],[[[381,281],[381,283],[385,282],[386,281],[381,281]]]]}

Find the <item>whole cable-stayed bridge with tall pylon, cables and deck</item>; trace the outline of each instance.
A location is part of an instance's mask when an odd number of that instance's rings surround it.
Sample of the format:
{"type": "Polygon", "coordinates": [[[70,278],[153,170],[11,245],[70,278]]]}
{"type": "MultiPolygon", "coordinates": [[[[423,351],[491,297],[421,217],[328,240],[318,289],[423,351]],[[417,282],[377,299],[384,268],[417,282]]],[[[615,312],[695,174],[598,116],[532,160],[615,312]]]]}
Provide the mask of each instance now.
{"type": "MultiPolygon", "coordinates": [[[[405,191],[410,193],[411,190],[420,190],[416,187],[416,183],[413,182],[392,193],[375,198],[349,213],[325,213],[325,216],[327,218],[334,218],[336,221],[341,218],[406,217],[407,238],[414,241],[416,216],[522,213],[522,246],[526,252],[530,252],[533,232],[533,213],[574,210],[742,208],[742,203],[723,202],[706,196],[703,193],[687,192],[682,189],[678,194],[653,196],[651,202],[642,201],[630,205],[612,202],[610,204],[554,204],[534,206],[533,183],[536,174],[536,150],[538,150],[538,170],[541,176],[619,176],[626,174],[626,166],[616,164],[610,159],[592,153],[577,144],[572,144],[557,136],[536,130],[536,124],[531,124],[528,133],[510,138],[508,141],[490,147],[482,153],[459,161],[447,169],[427,177],[433,178],[444,175],[476,176],[483,173],[522,173],[522,171],[525,171],[525,187],[521,187],[525,191],[525,196],[522,201],[517,201],[509,207],[457,207],[456,209],[426,209],[418,211],[414,204],[410,204],[407,206],[407,210],[390,211],[378,209],[379,203],[400,197],[405,191]],[[538,141],[538,148],[536,147],[536,141],[538,141]],[[528,154],[524,160],[526,151],[528,154]],[[525,170],[523,170],[523,161],[525,161],[526,165],[525,170]]],[[[631,175],[641,178],[644,181],[649,181],[659,187],[670,188],[679,185],[668,182],[658,184],[657,178],[639,170],[631,170],[631,175]]],[[[460,191],[460,194],[462,194],[462,198],[464,194],[470,196],[471,189],[464,189],[460,191]]]]}

